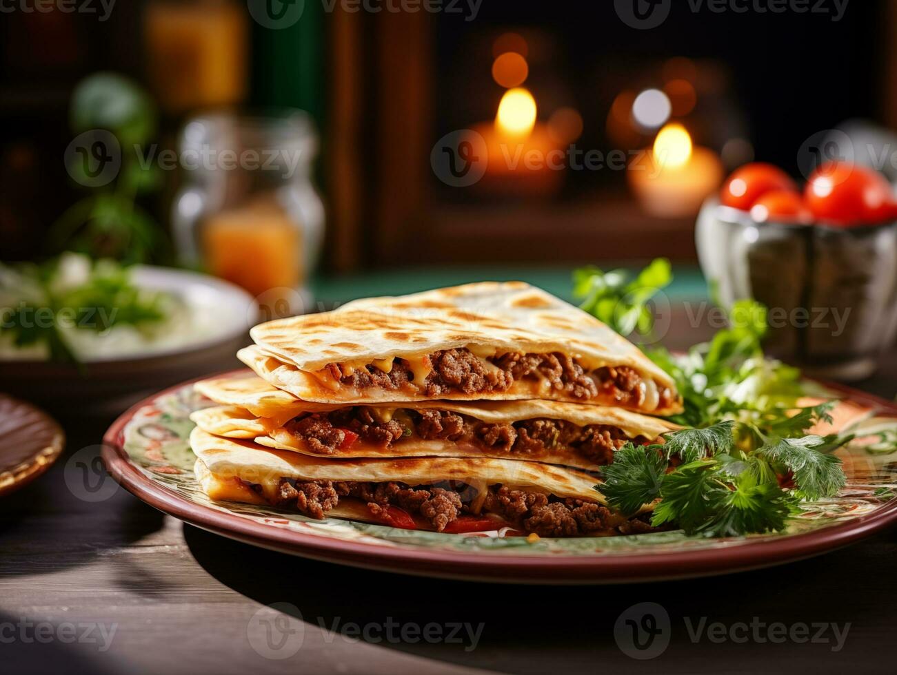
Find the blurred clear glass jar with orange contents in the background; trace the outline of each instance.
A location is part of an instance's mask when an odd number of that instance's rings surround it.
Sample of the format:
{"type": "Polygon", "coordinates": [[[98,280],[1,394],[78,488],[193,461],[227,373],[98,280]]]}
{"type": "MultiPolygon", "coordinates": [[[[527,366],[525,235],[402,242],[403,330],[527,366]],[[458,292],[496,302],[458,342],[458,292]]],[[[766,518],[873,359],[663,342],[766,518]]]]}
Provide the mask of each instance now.
{"type": "Polygon", "coordinates": [[[196,117],[179,145],[172,227],[181,262],[248,290],[268,316],[300,311],[324,238],[309,116],[196,117]]]}

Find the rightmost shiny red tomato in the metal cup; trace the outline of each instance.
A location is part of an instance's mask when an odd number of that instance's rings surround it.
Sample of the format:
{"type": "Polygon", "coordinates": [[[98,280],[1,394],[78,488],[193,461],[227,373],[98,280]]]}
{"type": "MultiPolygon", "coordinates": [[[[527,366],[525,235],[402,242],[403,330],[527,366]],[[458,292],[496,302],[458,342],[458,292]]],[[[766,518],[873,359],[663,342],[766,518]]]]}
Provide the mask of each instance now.
{"type": "Polygon", "coordinates": [[[826,162],[810,176],[804,192],[806,205],[819,221],[856,227],[894,217],[894,199],[887,179],[874,169],[826,162]]]}

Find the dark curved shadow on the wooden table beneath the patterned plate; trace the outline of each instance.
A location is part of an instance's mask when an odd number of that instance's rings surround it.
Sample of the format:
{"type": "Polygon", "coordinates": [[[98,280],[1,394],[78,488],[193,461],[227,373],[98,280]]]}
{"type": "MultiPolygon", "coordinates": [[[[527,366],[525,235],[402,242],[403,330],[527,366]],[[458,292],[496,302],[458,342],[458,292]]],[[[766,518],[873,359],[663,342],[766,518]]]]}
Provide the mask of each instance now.
{"type": "Polygon", "coordinates": [[[881,635],[865,632],[886,625],[893,613],[897,581],[884,572],[897,552],[894,530],[861,544],[862,556],[853,547],[736,575],[607,586],[483,584],[394,575],[261,550],[189,525],[184,534],[206,571],[256,601],[291,603],[307,624],[336,634],[369,626],[368,642],[466,666],[515,672],[562,667],[574,672],[594,671],[600,664],[602,670],[616,666],[625,671],[687,672],[696,670],[695,654],[700,653],[701,659],[718,659],[720,667],[742,659],[750,661],[752,669],[780,671],[792,660],[795,667],[818,659],[844,669],[870,659],[890,662],[894,653],[890,638],[883,647],[881,635]],[[658,661],[635,660],[616,641],[626,629],[625,618],[619,624],[617,619],[640,602],[657,603],[669,616],[671,641],[658,661]],[[814,644],[753,639],[718,643],[704,632],[714,622],[731,626],[754,618],[764,625],[781,622],[789,627],[850,622],[854,630],[837,651],[831,632],[830,642],[814,644]],[[390,642],[384,639],[389,622],[417,627],[435,622],[443,636],[450,625],[466,627],[457,635],[460,644],[390,642]],[[480,625],[482,633],[474,645],[468,636],[480,625]],[[694,631],[700,631],[696,638],[694,631]]]}

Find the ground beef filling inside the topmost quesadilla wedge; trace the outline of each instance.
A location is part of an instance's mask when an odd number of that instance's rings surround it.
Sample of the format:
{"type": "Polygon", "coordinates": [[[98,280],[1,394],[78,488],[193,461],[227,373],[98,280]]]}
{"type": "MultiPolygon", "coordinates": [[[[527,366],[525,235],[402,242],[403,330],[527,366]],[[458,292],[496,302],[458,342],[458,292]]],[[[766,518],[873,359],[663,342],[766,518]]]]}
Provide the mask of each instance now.
{"type": "MultiPolygon", "coordinates": [[[[640,387],[641,376],[632,368],[605,367],[589,373],[574,359],[560,352],[509,353],[483,363],[469,350],[452,349],[435,351],[424,357],[424,363],[432,371],[423,381],[422,389],[433,398],[457,392],[506,392],[515,380],[536,378],[544,379],[563,394],[582,400],[602,397],[618,404],[637,406],[644,395],[640,387]]],[[[375,386],[395,391],[414,382],[414,373],[405,359],[394,359],[388,373],[373,365],[346,372],[332,363],[327,369],[344,385],[359,389],[375,386]]],[[[661,407],[670,405],[675,399],[672,390],[666,387],[660,388],[659,396],[661,407]]]]}

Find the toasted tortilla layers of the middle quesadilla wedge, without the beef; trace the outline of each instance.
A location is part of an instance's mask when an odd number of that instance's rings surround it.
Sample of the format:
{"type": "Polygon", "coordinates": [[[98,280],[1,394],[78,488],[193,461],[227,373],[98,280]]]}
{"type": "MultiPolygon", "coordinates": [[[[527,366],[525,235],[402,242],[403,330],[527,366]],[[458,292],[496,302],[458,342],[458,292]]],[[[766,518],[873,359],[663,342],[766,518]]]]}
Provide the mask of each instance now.
{"type": "MultiPolygon", "coordinates": [[[[259,385],[259,389],[265,384],[259,385]]],[[[237,402],[238,398],[231,395],[219,395],[228,392],[228,381],[217,381],[211,386],[203,387],[203,391],[213,400],[227,399],[228,402],[237,402]]],[[[248,396],[248,400],[255,400],[255,396],[248,396]]],[[[346,406],[342,404],[315,404],[309,403],[309,409],[296,411],[294,403],[289,407],[294,417],[301,412],[335,411],[346,406]],[[322,410],[324,409],[324,410],[322,410]]],[[[661,434],[675,430],[675,425],[664,420],[640,415],[636,412],[624,411],[620,408],[605,408],[601,406],[579,405],[559,401],[483,401],[483,402],[452,402],[452,401],[422,401],[413,403],[371,403],[371,408],[393,409],[407,408],[411,410],[444,410],[457,412],[462,415],[481,420],[485,423],[513,424],[523,420],[552,419],[569,421],[578,427],[589,425],[606,425],[619,428],[631,438],[644,437],[653,441],[661,434]]],[[[254,440],[257,444],[272,447],[278,450],[289,450],[303,454],[322,456],[309,450],[309,447],[286,428],[283,427],[283,411],[277,407],[268,409],[274,417],[257,417],[251,411],[234,405],[224,405],[205,408],[194,412],[190,419],[196,422],[199,428],[216,436],[243,438],[254,440]]],[[[545,454],[528,456],[526,454],[514,454],[502,452],[494,448],[466,441],[454,441],[448,439],[423,439],[410,437],[399,439],[383,446],[380,444],[365,442],[358,439],[347,449],[337,449],[334,454],[326,455],[332,458],[353,457],[494,457],[505,459],[525,458],[537,462],[558,463],[574,466],[586,470],[595,470],[595,462],[583,454],[579,454],[574,448],[558,446],[545,454]]]]}

